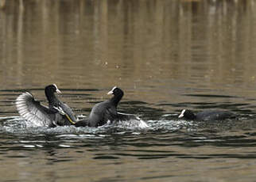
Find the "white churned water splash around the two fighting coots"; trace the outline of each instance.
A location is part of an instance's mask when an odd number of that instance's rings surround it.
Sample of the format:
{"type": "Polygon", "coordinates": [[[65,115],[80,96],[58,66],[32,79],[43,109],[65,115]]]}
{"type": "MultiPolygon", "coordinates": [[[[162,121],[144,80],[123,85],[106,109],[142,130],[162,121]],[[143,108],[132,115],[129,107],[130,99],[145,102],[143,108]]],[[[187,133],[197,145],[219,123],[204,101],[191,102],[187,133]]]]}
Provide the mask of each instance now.
{"type": "MultiPolygon", "coordinates": [[[[83,118],[85,116],[80,116],[83,118]]],[[[99,137],[99,135],[118,134],[120,132],[130,133],[132,135],[138,135],[146,131],[176,131],[182,127],[188,127],[192,123],[187,121],[176,120],[148,120],[142,119],[130,119],[122,122],[108,123],[101,127],[45,127],[33,125],[33,123],[27,122],[20,116],[14,117],[0,117],[0,132],[11,134],[33,134],[33,135],[83,135],[87,137],[92,135],[99,137]]]]}

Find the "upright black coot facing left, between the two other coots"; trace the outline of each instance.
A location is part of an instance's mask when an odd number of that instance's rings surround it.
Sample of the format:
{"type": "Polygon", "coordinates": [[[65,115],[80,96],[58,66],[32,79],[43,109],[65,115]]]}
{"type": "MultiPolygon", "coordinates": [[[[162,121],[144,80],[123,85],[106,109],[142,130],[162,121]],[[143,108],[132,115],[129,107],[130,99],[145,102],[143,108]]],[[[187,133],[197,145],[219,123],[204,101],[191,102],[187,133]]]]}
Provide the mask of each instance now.
{"type": "MultiPolygon", "coordinates": [[[[95,104],[91,109],[91,114],[86,119],[81,119],[78,121],[76,127],[99,127],[106,124],[108,121],[113,122],[115,119],[118,119],[119,116],[117,112],[117,107],[119,101],[122,99],[124,93],[122,89],[114,86],[108,95],[113,94],[110,100],[106,100],[95,104]]],[[[124,117],[124,116],[123,116],[124,117]]]]}

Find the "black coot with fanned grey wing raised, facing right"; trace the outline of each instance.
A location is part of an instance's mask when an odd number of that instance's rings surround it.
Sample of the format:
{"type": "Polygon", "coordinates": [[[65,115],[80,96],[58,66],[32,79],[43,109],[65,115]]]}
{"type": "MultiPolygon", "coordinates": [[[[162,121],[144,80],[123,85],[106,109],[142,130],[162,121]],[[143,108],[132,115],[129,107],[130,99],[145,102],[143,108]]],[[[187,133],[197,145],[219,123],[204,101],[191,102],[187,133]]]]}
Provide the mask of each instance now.
{"type": "Polygon", "coordinates": [[[45,87],[48,107],[35,100],[31,93],[22,93],[15,102],[17,112],[29,122],[39,126],[55,127],[75,124],[76,116],[72,109],[61,102],[55,93],[61,93],[56,84],[45,87]]]}

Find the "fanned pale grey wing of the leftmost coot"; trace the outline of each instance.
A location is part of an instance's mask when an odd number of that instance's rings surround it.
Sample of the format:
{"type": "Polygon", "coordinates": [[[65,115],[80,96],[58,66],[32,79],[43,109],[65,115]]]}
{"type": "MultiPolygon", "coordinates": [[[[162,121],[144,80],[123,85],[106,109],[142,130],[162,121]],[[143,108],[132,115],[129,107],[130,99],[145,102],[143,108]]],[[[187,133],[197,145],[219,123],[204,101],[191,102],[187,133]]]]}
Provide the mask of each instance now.
{"type": "Polygon", "coordinates": [[[16,99],[17,112],[29,122],[37,126],[49,126],[52,124],[53,113],[35,100],[31,93],[22,93],[16,99]]]}

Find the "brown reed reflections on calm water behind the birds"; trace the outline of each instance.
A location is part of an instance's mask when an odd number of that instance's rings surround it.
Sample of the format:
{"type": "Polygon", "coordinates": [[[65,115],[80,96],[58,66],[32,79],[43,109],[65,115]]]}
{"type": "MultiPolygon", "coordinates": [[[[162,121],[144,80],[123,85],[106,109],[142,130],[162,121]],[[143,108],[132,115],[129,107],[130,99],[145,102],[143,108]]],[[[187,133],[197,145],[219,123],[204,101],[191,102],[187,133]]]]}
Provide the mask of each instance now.
{"type": "Polygon", "coordinates": [[[0,21],[9,86],[248,86],[255,77],[254,1],[11,0],[0,21]]]}

